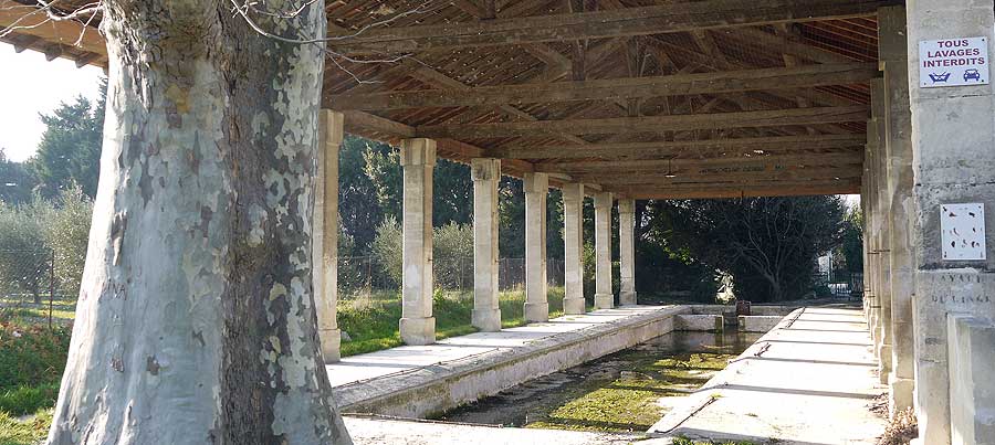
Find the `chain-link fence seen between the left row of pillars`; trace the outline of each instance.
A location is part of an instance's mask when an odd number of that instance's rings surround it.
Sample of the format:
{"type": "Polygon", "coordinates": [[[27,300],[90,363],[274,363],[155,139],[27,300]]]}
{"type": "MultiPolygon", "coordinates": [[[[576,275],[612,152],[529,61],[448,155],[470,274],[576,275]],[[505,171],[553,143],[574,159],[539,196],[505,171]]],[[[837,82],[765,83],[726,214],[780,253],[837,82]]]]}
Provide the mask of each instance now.
{"type": "MultiPolygon", "coordinates": [[[[338,257],[339,299],[389,299],[397,298],[401,289],[399,271],[391,268],[377,256],[338,257]]],[[[436,257],[432,259],[434,288],[444,292],[473,292],[472,257],[436,257]]],[[[564,285],[562,259],[546,261],[546,280],[551,287],[564,285]]],[[[498,261],[498,287],[501,292],[525,288],[525,259],[501,258],[498,261]]]]}

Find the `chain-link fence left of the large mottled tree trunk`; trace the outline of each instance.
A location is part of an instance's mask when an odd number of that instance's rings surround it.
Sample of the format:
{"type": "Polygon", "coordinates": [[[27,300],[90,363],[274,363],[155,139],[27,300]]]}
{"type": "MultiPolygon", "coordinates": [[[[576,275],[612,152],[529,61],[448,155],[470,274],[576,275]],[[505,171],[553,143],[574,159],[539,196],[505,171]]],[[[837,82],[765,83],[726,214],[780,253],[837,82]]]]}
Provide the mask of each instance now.
{"type": "Polygon", "coordinates": [[[80,293],[78,278],[67,268],[76,265],[60,265],[51,248],[0,251],[0,320],[67,322],[61,316],[72,312],[80,293]]]}

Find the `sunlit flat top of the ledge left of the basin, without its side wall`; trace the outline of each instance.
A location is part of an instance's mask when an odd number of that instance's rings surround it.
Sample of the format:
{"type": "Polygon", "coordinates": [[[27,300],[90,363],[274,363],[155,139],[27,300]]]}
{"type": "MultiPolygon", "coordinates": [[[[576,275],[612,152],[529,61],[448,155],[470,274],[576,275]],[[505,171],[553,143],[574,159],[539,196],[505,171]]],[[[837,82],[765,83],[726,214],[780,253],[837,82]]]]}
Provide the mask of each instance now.
{"type": "Polygon", "coordinates": [[[563,316],[548,322],[476,332],[440,340],[430,346],[404,346],[384,351],[344,358],[326,367],[332,386],[341,386],[390,374],[402,374],[440,363],[450,363],[499,349],[521,348],[551,336],[620,321],[661,309],[661,306],[626,306],[600,309],[585,315],[563,316]]]}

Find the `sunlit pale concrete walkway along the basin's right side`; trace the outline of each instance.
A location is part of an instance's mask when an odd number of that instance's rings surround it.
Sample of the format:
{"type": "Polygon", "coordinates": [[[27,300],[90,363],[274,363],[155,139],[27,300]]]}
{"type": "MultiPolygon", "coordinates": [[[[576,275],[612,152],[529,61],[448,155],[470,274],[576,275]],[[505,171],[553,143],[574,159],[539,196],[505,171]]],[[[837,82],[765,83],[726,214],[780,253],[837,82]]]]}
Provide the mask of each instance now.
{"type": "Polygon", "coordinates": [[[756,444],[873,444],[884,420],[869,406],[887,390],[871,348],[859,309],[799,309],[650,432],[756,444]]]}

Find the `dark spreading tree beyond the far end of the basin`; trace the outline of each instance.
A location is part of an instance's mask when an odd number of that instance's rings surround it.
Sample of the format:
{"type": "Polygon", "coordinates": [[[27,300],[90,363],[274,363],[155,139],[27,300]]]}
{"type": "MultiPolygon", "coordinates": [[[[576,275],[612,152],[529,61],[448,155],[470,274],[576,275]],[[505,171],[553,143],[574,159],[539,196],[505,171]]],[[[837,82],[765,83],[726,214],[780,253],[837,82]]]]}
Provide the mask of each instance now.
{"type": "Polygon", "coordinates": [[[727,271],[740,298],[798,298],[813,283],[816,256],[839,243],[838,197],[654,201],[653,236],[672,252],[727,271]]]}

